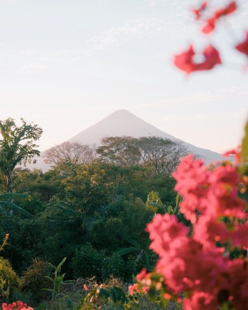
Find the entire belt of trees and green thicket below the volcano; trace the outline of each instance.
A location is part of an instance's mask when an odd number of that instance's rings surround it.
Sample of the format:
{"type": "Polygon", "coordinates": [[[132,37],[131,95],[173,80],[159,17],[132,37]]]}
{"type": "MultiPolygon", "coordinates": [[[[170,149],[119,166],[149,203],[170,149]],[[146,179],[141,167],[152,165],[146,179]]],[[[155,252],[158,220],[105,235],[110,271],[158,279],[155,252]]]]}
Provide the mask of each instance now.
{"type": "Polygon", "coordinates": [[[39,155],[41,128],[7,119],[0,133],[0,192],[8,192],[0,201],[0,238],[9,233],[1,255],[18,275],[64,257],[67,279],[113,275],[128,282],[143,266],[154,267],[145,232],[154,208],[146,200],[156,191],[163,210],[175,208],[171,172],[187,153],[181,143],[159,137],[103,138],[98,148],[66,142],[45,153],[52,166],[43,173],[18,166],[39,155]]]}

